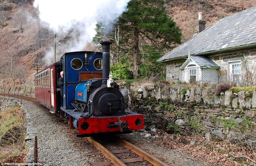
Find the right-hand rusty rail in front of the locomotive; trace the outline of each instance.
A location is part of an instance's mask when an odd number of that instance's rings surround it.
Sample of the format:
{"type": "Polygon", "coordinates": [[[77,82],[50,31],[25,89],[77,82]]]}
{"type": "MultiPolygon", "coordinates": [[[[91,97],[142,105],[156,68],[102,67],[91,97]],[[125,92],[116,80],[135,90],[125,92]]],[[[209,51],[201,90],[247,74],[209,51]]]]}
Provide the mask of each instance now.
{"type": "Polygon", "coordinates": [[[130,150],[132,150],[137,155],[142,156],[145,160],[152,163],[153,165],[165,165],[165,166],[168,165],[168,164],[162,162],[161,160],[159,160],[158,158],[148,154],[146,151],[134,146],[132,143],[130,143],[126,140],[123,140],[119,137],[116,137],[116,139],[117,139],[117,141],[121,142],[124,147],[129,148],[130,150]]]}

